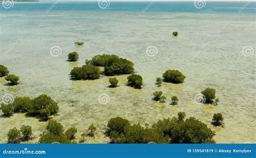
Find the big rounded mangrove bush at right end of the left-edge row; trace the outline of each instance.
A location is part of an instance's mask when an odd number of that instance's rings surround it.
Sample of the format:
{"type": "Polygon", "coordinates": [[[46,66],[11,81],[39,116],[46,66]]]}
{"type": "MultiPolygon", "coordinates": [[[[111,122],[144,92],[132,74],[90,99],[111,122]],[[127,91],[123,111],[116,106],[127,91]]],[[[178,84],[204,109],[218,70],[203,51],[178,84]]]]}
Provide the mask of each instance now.
{"type": "Polygon", "coordinates": [[[39,116],[41,119],[48,119],[52,114],[58,112],[59,106],[57,102],[48,97],[45,94],[39,95],[33,99],[32,106],[29,109],[29,114],[33,116],[39,116]]]}

